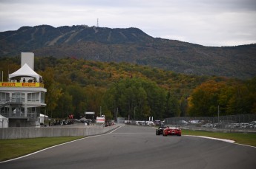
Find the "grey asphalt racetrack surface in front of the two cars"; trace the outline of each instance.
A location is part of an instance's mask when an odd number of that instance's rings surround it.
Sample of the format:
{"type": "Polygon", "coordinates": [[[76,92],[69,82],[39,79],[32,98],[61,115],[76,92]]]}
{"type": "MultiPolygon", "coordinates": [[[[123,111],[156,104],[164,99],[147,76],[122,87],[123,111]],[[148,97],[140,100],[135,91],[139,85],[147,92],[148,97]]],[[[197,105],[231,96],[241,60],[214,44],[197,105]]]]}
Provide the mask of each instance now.
{"type": "Polygon", "coordinates": [[[59,145],[0,168],[256,168],[256,148],[189,136],[156,136],[125,125],[111,134],[59,145]]]}

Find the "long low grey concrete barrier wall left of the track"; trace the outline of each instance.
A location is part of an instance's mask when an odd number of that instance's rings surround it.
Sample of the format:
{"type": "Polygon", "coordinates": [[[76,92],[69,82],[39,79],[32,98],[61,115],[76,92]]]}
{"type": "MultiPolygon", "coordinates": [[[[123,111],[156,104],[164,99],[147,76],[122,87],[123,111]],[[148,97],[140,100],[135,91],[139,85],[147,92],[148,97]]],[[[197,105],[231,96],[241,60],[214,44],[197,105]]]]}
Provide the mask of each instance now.
{"type": "Polygon", "coordinates": [[[43,127],[43,128],[0,128],[0,139],[27,139],[36,137],[92,136],[104,134],[119,125],[108,127],[43,127]]]}

